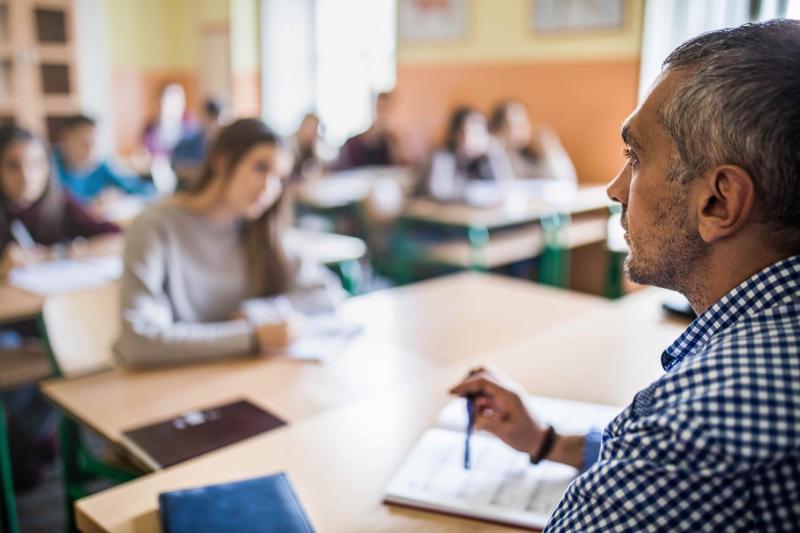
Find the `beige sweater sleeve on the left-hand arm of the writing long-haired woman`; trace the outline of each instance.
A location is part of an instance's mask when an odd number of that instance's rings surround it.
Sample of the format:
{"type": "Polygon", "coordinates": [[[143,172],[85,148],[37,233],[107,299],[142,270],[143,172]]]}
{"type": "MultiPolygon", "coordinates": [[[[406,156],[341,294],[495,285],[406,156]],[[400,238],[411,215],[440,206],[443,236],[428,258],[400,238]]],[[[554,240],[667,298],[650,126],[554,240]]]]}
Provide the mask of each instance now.
{"type": "Polygon", "coordinates": [[[246,320],[213,323],[175,320],[164,286],[168,243],[155,221],[139,217],[126,234],[121,282],[121,331],[115,346],[130,366],[215,360],[255,351],[246,320]]]}

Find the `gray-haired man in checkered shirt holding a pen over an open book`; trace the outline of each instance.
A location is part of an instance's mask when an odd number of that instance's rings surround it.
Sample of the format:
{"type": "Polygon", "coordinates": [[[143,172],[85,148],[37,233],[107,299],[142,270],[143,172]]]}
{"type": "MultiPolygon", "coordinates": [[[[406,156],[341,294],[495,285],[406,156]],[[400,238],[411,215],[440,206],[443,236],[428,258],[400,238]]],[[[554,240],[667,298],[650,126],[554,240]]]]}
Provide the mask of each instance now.
{"type": "Polygon", "coordinates": [[[548,532],[800,531],[800,21],[682,44],[622,138],[626,271],[698,314],[666,373],[588,435],[492,371],[452,392],[532,462],[583,471],[548,532]]]}

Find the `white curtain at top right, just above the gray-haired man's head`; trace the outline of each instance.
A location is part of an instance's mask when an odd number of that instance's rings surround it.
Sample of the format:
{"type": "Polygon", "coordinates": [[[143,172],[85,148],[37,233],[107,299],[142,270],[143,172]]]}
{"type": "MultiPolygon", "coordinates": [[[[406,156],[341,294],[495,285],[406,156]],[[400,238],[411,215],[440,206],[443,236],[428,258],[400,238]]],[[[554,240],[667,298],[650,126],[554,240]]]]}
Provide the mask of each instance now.
{"type": "Polygon", "coordinates": [[[667,55],[700,33],[745,22],[797,16],[800,0],[646,0],[639,101],[667,55]]]}

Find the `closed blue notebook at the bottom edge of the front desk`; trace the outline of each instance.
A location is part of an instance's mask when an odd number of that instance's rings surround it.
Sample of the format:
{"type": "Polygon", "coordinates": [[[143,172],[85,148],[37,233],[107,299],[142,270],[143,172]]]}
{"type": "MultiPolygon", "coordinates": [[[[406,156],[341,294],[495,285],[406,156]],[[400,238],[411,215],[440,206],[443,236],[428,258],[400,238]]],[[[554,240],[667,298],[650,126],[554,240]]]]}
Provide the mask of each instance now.
{"type": "Polygon", "coordinates": [[[313,533],[285,473],[165,492],[158,496],[164,533],[237,531],[313,533]]]}

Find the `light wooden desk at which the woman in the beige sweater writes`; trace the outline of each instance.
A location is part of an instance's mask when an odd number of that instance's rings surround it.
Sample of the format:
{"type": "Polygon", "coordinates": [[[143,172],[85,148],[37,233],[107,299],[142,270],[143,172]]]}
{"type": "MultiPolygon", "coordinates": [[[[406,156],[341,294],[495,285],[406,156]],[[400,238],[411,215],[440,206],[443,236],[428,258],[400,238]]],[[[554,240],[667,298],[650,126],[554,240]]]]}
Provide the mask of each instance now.
{"type": "Polygon", "coordinates": [[[125,429],[240,397],[294,421],[454,360],[473,360],[603,304],[501,276],[461,274],[351,299],[343,314],[364,331],[345,353],[322,363],[244,357],[151,371],[119,368],[49,380],[42,390],[116,444],[125,429]]]}

